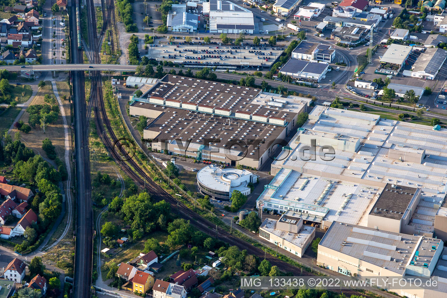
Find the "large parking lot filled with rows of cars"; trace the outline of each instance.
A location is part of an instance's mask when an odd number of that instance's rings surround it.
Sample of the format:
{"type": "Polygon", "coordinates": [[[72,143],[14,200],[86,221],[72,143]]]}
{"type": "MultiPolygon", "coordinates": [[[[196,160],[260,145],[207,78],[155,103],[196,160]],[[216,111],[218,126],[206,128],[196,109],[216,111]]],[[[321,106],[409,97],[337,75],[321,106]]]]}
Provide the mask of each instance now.
{"type": "MultiPolygon", "coordinates": [[[[150,45],[148,57],[172,61],[174,63],[207,64],[207,65],[233,65],[233,66],[258,66],[270,67],[277,59],[284,47],[270,46],[261,42],[259,46],[225,46],[218,42],[211,44],[198,40],[194,44],[187,44],[183,38],[169,41],[158,39],[159,42],[150,45]],[[179,44],[180,43],[180,44],[179,44]]],[[[157,39],[156,39],[157,41],[157,39]]]]}

